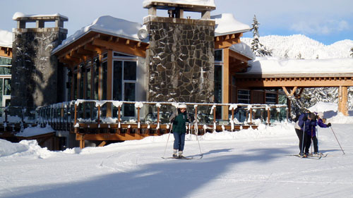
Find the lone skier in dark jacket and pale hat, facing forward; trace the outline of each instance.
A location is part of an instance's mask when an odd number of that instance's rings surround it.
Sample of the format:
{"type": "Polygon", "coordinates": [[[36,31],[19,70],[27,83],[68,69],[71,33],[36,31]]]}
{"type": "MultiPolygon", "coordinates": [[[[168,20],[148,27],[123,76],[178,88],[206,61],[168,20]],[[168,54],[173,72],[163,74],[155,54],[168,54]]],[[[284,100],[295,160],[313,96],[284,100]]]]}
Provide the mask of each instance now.
{"type": "Polygon", "coordinates": [[[189,116],[186,113],[186,104],[180,104],[177,112],[174,111],[169,118],[169,122],[173,123],[172,131],[174,135],[173,157],[184,157],[184,144],[186,134],[186,123],[189,122],[189,116]],[[179,151],[179,155],[177,155],[179,151]]]}

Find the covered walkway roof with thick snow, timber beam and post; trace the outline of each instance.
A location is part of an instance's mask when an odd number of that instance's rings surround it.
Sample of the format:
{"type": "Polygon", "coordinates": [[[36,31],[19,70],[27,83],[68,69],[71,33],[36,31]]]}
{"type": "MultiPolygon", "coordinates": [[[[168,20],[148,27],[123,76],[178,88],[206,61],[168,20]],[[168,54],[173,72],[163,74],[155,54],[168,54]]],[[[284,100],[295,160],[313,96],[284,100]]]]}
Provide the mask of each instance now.
{"type": "Polygon", "coordinates": [[[353,58],[257,57],[249,64],[245,73],[235,75],[239,89],[283,89],[287,97],[299,98],[304,88],[338,87],[338,110],[348,115],[347,87],[353,86],[353,58]]]}

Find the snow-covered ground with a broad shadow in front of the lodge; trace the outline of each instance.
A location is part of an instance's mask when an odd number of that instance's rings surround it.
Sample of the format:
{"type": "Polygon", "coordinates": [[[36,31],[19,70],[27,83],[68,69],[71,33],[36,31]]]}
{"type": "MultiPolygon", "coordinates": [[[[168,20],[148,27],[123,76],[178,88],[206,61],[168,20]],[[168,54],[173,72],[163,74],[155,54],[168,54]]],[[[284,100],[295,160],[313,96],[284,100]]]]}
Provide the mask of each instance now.
{"type": "Polygon", "coordinates": [[[320,160],[289,156],[299,153],[293,123],[186,135],[184,154],[203,153],[193,160],[161,158],[172,135],[65,151],[0,140],[0,197],[353,197],[352,117],[330,115],[320,160]]]}

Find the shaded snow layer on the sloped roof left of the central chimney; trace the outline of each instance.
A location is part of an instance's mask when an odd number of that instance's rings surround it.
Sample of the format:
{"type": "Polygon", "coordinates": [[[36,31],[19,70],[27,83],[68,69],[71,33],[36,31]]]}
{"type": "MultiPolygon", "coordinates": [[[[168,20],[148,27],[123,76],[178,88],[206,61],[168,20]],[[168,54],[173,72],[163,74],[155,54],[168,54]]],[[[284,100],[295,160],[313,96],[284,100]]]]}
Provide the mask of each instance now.
{"type": "Polygon", "coordinates": [[[82,27],[73,35],[65,39],[61,45],[53,50],[52,53],[59,51],[60,49],[66,47],[68,44],[71,44],[80,37],[83,37],[83,35],[86,35],[88,32],[92,31],[140,41],[140,39],[138,39],[137,32],[141,27],[142,25],[140,25],[140,23],[131,22],[121,18],[114,18],[112,16],[101,16],[93,21],[93,23],[90,25],[82,27]]]}

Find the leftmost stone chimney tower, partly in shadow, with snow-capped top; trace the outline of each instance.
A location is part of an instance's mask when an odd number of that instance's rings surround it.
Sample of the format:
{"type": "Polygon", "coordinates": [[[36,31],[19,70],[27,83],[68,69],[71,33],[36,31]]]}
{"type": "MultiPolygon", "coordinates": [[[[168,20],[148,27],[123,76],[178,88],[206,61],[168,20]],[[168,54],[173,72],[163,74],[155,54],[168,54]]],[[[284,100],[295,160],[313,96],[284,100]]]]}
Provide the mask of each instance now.
{"type": "Polygon", "coordinates": [[[11,106],[34,108],[56,103],[61,71],[51,52],[66,39],[64,21],[68,18],[16,13],[13,20],[17,20],[17,28],[13,29],[11,106]],[[27,28],[26,23],[35,23],[35,27],[27,28]],[[54,27],[44,27],[45,23],[54,27]]]}

